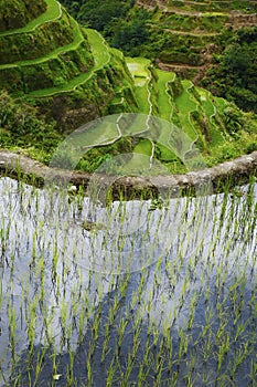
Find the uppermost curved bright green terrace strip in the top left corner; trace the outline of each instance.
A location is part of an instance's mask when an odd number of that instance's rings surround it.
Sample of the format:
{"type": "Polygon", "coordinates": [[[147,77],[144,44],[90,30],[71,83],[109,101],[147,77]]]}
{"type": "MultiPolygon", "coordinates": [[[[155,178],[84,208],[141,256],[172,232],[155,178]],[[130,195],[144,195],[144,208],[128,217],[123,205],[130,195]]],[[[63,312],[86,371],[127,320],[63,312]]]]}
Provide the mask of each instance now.
{"type": "Polygon", "coordinates": [[[45,2],[47,3],[47,10],[44,13],[42,13],[39,18],[33,19],[31,22],[29,22],[25,27],[21,29],[0,32],[0,38],[14,35],[18,33],[32,32],[41,24],[60,19],[62,17],[61,4],[55,0],[45,0],[45,2]]]}

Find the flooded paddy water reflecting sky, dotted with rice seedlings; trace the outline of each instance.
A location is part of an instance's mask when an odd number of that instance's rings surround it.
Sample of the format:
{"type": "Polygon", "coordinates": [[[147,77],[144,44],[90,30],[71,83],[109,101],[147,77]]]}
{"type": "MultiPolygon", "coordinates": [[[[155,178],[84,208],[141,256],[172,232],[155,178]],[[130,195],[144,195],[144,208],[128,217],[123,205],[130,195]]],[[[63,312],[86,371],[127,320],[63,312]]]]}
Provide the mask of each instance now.
{"type": "MultiPolygon", "coordinates": [[[[122,318],[127,326],[114,386],[119,386],[128,354],[132,351],[135,321],[140,321],[140,344],[138,362],[130,375],[131,385],[138,377],[147,337],[154,358],[161,337],[169,332],[175,358],[183,331],[190,338],[188,355],[180,362],[178,386],[186,385],[183,378],[192,356],[195,357],[196,385],[215,386],[221,373],[214,355],[218,352],[214,337],[222,324],[221,307],[226,322],[224,334],[229,335],[233,343],[222,372],[225,373],[247,345],[249,352],[240,362],[234,381],[236,386],[247,386],[250,365],[255,360],[257,323],[253,311],[257,236],[251,221],[254,206],[247,205],[247,189],[240,187],[236,195],[228,195],[226,201],[224,195],[217,195],[159,203],[115,202],[106,208],[100,203],[93,206],[87,198],[40,190],[1,178],[1,386],[14,386],[17,380],[20,380],[18,386],[29,386],[28,364],[39,363],[43,347],[47,348],[43,372],[38,379],[33,367],[31,372],[35,386],[67,386],[71,353],[74,354],[73,385],[76,386],[75,380],[78,386],[86,385],[85,364],[93,342],[96,342],[93,386],[106,386],[122,318]],[[121,295],[117,289],[122,286],[126,273],[129,273],[129,280],[126,294],[121,295]],[[246,328],[244,335],[233,342],[236,311],[229,289],[234,284],[238,294],[243,291],[239,322],[245,322],[246,328]],[[103,364],[105,326],[115,300],[119,306],[103,364]],[[194,300],[194,318],[189,331],[194,300]],[[207,316],[211,316],[210,323],[207,316]],[[95,318],[100,318],[97,339],[92,330],[95,318]],[[213,354],[204,363],[205,343],[201,332],[208,324],[212,326],[213,354]],[[157,333],[157,345],[153,345],[157,333]],[[53,353],[56,353],[61,375],[55,381],[53,353]]],[[[254,203],[256,194],[257,187],[254,203]]],[[[236,305],[238,303],[237,300],[236,305]]],[[[161,386],[171,383],[165,362],[161,386]]],[[[178,370],[178,364],[174,362],[172,372],[178,370]]],[[[148,385],[152,385],[154,373],[152,365],[148,385]]]]}

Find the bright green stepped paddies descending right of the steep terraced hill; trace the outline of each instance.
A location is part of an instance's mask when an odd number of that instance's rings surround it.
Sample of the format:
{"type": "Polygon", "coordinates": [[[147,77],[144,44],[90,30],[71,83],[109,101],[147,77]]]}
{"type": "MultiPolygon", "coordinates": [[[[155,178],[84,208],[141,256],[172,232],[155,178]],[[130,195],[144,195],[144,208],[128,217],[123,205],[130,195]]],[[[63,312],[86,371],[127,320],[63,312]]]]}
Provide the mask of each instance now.
{"type": "MultiPolygon", "coordinates": [[[[121,149],[122,153],[147,156],[140,161],[137,156],[132,157],[130,172],[139,172],[137,168],[141,170],[142,166],[151,168],[153,158],[157,158],[176,174],[188,170],[186,163],[195,148],[201,150],[204,163],[213,166],[250,153],[257,146],[257,123],[253,115],[196,87],[189,80],[181,80],[175,73],[157,70],[148,59],[126,57],[126,62],[135,81],[139,112],[144,116],[124,127],[119,124],[122,123],[120,114],[107,121],[105,130],[101,124],[94,130],[86,129],[87,148],[93,149],[84,156],[79,168],[93,171],[107,155],[117,156],[121,149]],[[165,121],[160,124],[163,126],[161,129],[156,128],[159,123],[151,123],[152,115],[165,121]],[[178,145],[173,140],[181,138],[181,133],[188,138],[183,138],[183,148],[178,157],[178,145]]],[[[79,144],[76,145],[79,148],[79,144]]]]}

